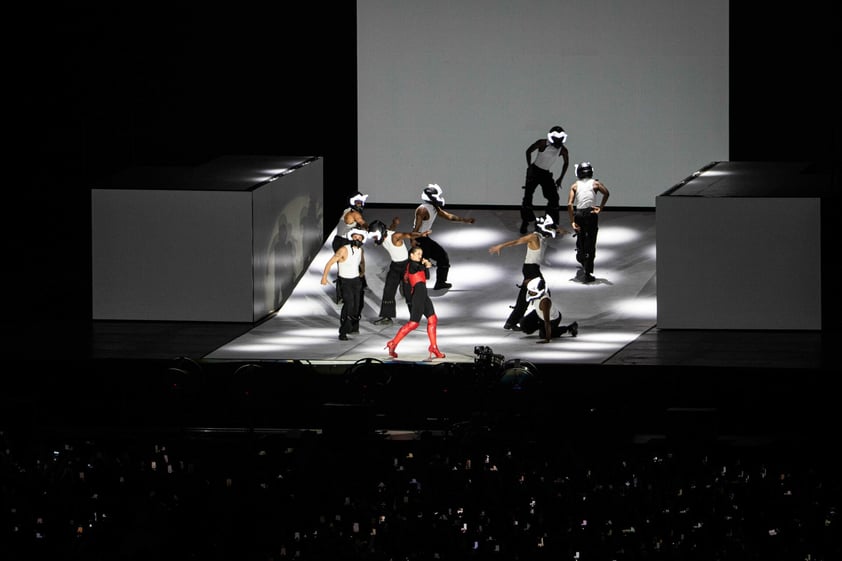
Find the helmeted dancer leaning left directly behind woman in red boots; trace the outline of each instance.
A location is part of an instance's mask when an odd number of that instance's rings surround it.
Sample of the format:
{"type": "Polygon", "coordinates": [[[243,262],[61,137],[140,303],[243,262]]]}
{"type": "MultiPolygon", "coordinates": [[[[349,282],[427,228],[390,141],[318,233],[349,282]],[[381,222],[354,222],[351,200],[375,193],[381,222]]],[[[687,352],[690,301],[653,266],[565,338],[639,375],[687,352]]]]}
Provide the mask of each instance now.
{"type": "MultiPolygon", "coordinates": [[[[409,263],[409,250],[406,247],[406,240],[426,236],[430,233],[429,231],[398,232],[396,230],[399,224],[400,219],[395,216],[388,227],[380,220],[374,220],[368,226],[370,237],[375,240],[374,244],[385,249],[391,258],[389,271],[386,273],[386,281],[383,285],[383,296],[380,299],[380,317],[374,321],[374,325],[392,325],[392,319],[397,315],[395,295],[409,263]]],[[[407,308],[411,309],[409,290],[402,288],[401,294],[406,299],[407,308]]]]}

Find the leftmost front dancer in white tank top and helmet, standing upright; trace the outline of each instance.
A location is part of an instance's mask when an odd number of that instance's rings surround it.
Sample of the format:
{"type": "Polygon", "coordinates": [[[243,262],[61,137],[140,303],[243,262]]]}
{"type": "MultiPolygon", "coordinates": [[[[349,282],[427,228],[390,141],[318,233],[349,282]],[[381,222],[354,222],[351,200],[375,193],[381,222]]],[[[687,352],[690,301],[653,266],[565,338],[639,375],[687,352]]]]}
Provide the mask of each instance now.
{"type": "Polygon", "coordinates": [[[339,340],[347,341],[349,333],[360,332],[360,315],[363,307],[362,277],[365,274],[363,243],[368,235],[365,230],[348,232],[350,242],[340,245],[328,260],[322,273],[322,285],[327,284],[327,275],[333,264],[337,264],[336,290],[342,295],[342,310],[339,313],[339,340]]]}

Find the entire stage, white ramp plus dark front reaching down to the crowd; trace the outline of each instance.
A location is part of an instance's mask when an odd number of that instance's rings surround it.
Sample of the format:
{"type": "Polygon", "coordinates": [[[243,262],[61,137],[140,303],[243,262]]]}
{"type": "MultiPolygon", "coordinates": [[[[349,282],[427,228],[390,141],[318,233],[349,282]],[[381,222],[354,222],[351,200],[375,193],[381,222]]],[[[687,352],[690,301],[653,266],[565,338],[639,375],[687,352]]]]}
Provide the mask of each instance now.
{"type": "MultiPolygon", "coordinates": [[[[532,412],[530,422],[533,415],[561,415],[579,428],[623,427],[632,438],[680,426],[676,416],[701,416],[705,426],[715,420],[723,434],[756,435],[812,423],[827,411],[826,373],[835,363],[837,332],[657,327],[654,211],[601,215],[596,280],[589,284],[574,278],[574,238],[549,242],[542,272],[563,323],[579,324],[577,337],[549,344],[503,329],[525,246],[500,256],[488,248],[520,235],[518,211],[456,212],[476,222],[435,225],[434,238],[452,264],[452,288],[432,297],[444,359],[427,360],[423,321],[401,342],[398,359],[389,357],[384,345],[408,313],[398,300],[393,325],[372,323],[388,257],[370,242],[360,333],[338,340],[334,285],[320,284],[332,254],[328,237],[281,308],[257,324],[41,319],[9,325],[5,355],[21,375],[11,378],[7,412],[32,409],[27,418],[55,427],[107,418],[121,430],[152,424],[417,434],[449,430],[478,414],[508,419],[515,407],[517,415],[532,412]],[[46,340],[52,343],[45,346],[46,340]],[[496,362],[479,360],[479,347],[490,349],[496,362]],[[510,391],[518,388],[529,391],[510,391]],[[746,407],[751,423],[740,420],[746,407]]],[[[408,224],[411,209],[367,209],[366,215],[384,222],[399,216],[408,224]]],[[[329,279],[335,278],[332,271],[329,279]]],[[[435,273],[429,285],[434,282],[435,273]]]]}

